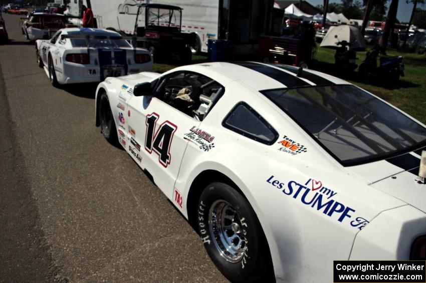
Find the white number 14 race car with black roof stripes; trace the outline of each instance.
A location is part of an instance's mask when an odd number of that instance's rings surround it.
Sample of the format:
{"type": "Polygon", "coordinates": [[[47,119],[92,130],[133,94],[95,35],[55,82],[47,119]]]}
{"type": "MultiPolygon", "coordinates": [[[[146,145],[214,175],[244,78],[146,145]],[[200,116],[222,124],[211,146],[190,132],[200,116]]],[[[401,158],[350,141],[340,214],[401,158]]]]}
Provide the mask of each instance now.
{"type": "Polygon", "coordinates": [[[107,78],[96,124],[232,281],[332,282],[333,260],[425,260],[426,128],[348,82],[254,62],[107,78]]]}

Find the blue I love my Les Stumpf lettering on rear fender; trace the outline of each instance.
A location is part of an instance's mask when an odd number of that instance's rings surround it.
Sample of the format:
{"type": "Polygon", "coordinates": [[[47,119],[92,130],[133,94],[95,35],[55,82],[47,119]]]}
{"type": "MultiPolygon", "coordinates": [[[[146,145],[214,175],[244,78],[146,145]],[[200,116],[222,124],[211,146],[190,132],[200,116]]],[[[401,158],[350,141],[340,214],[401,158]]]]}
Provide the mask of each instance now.
{"type": "MultiPolygon", "coordinates": [[[[297,202],[301,202],[303,205],[308,205],[312,209],[316,209],[323,214],[336,218],[338,222],[349,222],[346,218],[352,218],[356,210],[343,203],[338,202],[334,199],[337,192],[323,186],[321,181],[309,179],[305,184],[301,184],[297,181],[290,181],[285,185],[274,175],[266,179],[266,182],[279,190],[282,190],[283,194],[292,197],[297,202]],[[345,221],[347,220],[347,221],[345,221]]],[[[365,227],[369,223],[363,217],[352,218],[349,224],[352,227],[356,227],[359,230],[365,227]]]]}

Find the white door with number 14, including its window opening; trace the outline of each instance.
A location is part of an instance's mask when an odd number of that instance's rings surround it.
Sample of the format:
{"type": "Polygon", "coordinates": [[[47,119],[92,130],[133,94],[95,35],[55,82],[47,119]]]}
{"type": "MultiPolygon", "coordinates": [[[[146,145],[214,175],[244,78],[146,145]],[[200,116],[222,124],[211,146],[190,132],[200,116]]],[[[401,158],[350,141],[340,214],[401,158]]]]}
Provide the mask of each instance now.
{"type": "Polygon", "coordinates": [[[182,201],[174,182],[188,143],[185,134],[200,124],[193,113],[201,104],[200,86],[208,81],[211,79],[202,75],[178,71],[159,79],[155,97],[132,96],[128,100],[126,149],[180,207],[182,201]],[[141,160],[137,159],[139,154],[141,160]]]}

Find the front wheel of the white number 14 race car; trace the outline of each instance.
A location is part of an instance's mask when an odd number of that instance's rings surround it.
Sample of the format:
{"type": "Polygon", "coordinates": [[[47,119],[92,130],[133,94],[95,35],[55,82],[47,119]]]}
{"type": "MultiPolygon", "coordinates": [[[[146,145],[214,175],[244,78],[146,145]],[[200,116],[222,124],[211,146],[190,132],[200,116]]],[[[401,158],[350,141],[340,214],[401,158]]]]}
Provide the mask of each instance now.
{"type": "Polygon", "coordinates": [[[115,127],[114,118],[112,116],[111,106],[109,104],[106,92],[100,93],[99,100],[99,122],[101,124],[101,133],[104,138],[112,145],[118,144],[117,128],[115,127]]]}

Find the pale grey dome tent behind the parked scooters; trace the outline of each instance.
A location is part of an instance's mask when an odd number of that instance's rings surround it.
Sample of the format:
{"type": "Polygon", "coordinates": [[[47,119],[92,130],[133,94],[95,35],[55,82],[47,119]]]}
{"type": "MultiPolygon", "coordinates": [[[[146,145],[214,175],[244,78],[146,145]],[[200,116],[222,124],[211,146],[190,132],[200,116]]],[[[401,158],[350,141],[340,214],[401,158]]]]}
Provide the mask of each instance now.
{"type": "Polygon", "coordinates": [[[337,45],[339,41],[350,43],[350,49],[365,49],[364,37],[361,32],[357,28],[348,25],[330,27],[320,47],[337,49],[340,47],[337,45]]]}

